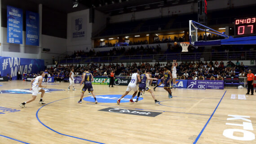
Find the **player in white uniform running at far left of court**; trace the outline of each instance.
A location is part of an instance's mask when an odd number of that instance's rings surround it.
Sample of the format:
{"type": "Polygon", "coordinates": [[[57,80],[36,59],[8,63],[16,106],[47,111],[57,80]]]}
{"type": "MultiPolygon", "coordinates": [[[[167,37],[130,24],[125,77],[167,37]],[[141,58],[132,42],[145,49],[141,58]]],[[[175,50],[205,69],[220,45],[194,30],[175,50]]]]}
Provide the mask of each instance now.
{"type": "Polygon", "coordinates": [[[39,92],[42,92],[39,104],[42,104],[42,105],[45,104],[43,101],[43,96],[44,96],[45,91],[43,89],[41,89],[41,87],[46,87],[46,86],[42,86],[42,81],[43,81],[44,76],[45,76],[44,71],[40,71],[40,76],[37,76],[35,79],[31,80],[30,91],[32,90],[32,98],[21,103],[20,106],[22,108],[26,108],[26,106],[25,106],[26,103],[30,103],[31,101],[34,101],[39,92]]]}

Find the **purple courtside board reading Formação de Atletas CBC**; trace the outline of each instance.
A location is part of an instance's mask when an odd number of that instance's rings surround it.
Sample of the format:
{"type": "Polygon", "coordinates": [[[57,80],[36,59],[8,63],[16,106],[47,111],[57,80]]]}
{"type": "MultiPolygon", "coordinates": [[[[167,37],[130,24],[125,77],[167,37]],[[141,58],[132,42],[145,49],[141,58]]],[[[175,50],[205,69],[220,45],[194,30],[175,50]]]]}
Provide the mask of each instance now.
{"type": "Polygon", "coordinates": [[[187,88],[224,89],[223,80],[188,80],[187,88]]]}

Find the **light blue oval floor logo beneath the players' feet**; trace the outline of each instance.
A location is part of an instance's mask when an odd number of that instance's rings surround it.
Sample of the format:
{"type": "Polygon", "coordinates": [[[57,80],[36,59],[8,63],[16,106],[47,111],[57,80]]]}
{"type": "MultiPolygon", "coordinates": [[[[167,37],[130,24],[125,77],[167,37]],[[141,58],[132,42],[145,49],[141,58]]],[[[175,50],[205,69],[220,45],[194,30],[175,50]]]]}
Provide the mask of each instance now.
{"type": "MultiPolygon", "coordinates": [[[[121,96],[122,95],[99,95],[99,96],[96,96],[96,98],[97,98],[98,102],[116,103],[116,100],[118,100],[121,96]]],[[[132,97],[132,95],[127,95],[120,102],[121,103],[129,102],[131,97],[132,97]]],[[[135,96],[135,98],[133,98],[133,101],[135,101],[136,98],[137,98],[137,96],[135,96]]],[[[90,102],[94,102],[95,101],[93,96],[85,97],[85,98],[83,98],[83,100],[90,101],[90,102]]],[[[139,100],[143,100],[143,98],[139,97],[139,100]]]]}

